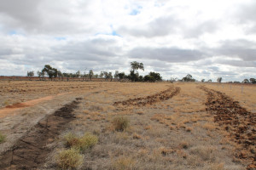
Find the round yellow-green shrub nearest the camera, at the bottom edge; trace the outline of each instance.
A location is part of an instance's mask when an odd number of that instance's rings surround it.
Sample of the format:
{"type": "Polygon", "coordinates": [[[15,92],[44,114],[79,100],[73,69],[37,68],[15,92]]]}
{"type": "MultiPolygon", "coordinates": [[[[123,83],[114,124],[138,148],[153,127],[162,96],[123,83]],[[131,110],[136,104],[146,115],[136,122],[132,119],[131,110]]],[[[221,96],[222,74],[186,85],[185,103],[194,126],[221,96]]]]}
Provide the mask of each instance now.
{"type": "Polygon", "coordinates": [[[69,150],[61,150],[57,156],[57,164],[63,170],[70,170],[81,166],[83,159],[84,156],[79,154],[79,150],[71,148],[69,150]]]}

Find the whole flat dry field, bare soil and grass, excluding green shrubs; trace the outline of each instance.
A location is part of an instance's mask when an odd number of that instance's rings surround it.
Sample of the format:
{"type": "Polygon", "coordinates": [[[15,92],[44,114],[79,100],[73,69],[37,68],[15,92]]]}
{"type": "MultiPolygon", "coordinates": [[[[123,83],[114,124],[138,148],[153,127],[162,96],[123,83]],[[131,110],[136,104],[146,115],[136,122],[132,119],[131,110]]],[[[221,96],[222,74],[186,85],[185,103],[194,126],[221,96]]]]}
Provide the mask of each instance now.
{"type": "Polygon", "coordinates": [[[256,86],[0,81],[0,96],[0,169],[58,169],[67,133],[87,132],[77,169],[256,168],[256,86]]]}

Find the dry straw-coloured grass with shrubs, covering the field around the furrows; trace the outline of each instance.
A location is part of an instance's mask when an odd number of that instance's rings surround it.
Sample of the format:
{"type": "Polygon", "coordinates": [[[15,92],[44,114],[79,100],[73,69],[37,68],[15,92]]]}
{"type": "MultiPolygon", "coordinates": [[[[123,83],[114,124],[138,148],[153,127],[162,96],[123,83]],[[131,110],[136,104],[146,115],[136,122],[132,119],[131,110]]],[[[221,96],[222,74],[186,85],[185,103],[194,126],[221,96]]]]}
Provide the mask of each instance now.
{"type": "MultiPolygon", "coordinates": [[[[6,101],[11,105],[66,93],[2,118],[0,131],[6,139],[0,154],[45,115],[81,98],[73,112],[76,117],[47,145],[51,151],[38,167],[42,170],[240,170],[250,164],[236,157],[239,144],[206,111],[207,94],[199,88],[201,83],[1,82],[0,86],[2,107],[6,101]],[[179,90],[173,94],[175,89],[179,90]],[[165,99],[161,99],[162,94],[165,99]],[[153,96],[154,102],[148,102],[152,101],[147,100],[148,96],[153,96]],[[124,101],[132,102],[126,105],[124,101]],[[146,103],[137,105],[139,102],[146,103]],[[30,122],[29,127],[20,123],[24,120],[30,122]]],[[[255,86],[244,87],[243,93],[241,87],[230,89],[230,85],[223,88],[211,83],[205,86],[224,92],[255,114],[255,86]]]]}

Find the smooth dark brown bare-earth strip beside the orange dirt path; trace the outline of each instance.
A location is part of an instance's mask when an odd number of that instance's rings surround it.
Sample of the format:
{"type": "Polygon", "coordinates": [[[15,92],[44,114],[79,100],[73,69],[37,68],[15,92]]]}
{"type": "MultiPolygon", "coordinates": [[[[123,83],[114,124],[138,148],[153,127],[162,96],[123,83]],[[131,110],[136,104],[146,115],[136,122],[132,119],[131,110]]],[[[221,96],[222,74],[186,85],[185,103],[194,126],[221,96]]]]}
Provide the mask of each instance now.
{"type": "Polygon", "coordinates": [[[55,141],[68,122],[75,116],[73,110],[79,105],[80,98],[64,105],[54,114],[44,117],[32,130],[0,156],[0,169],[37,169],[53,148],[47,147],[55,141]]]}

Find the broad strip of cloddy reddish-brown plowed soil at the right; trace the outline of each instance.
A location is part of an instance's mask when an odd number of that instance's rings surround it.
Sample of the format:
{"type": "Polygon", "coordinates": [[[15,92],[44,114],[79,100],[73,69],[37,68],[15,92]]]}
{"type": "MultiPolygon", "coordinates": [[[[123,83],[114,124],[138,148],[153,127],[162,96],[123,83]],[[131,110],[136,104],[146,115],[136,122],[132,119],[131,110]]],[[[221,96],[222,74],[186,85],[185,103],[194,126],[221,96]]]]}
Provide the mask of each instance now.
{"type": "Polygon", "coordinates": [[[250,162],[247,169],[256,169],[256,114],[221,92],[205,87],[201,89],[207,93],[207,111],[214,114],[214,121],[241,146],[242,150],[236,150],[236,158],[250,162]]]}

